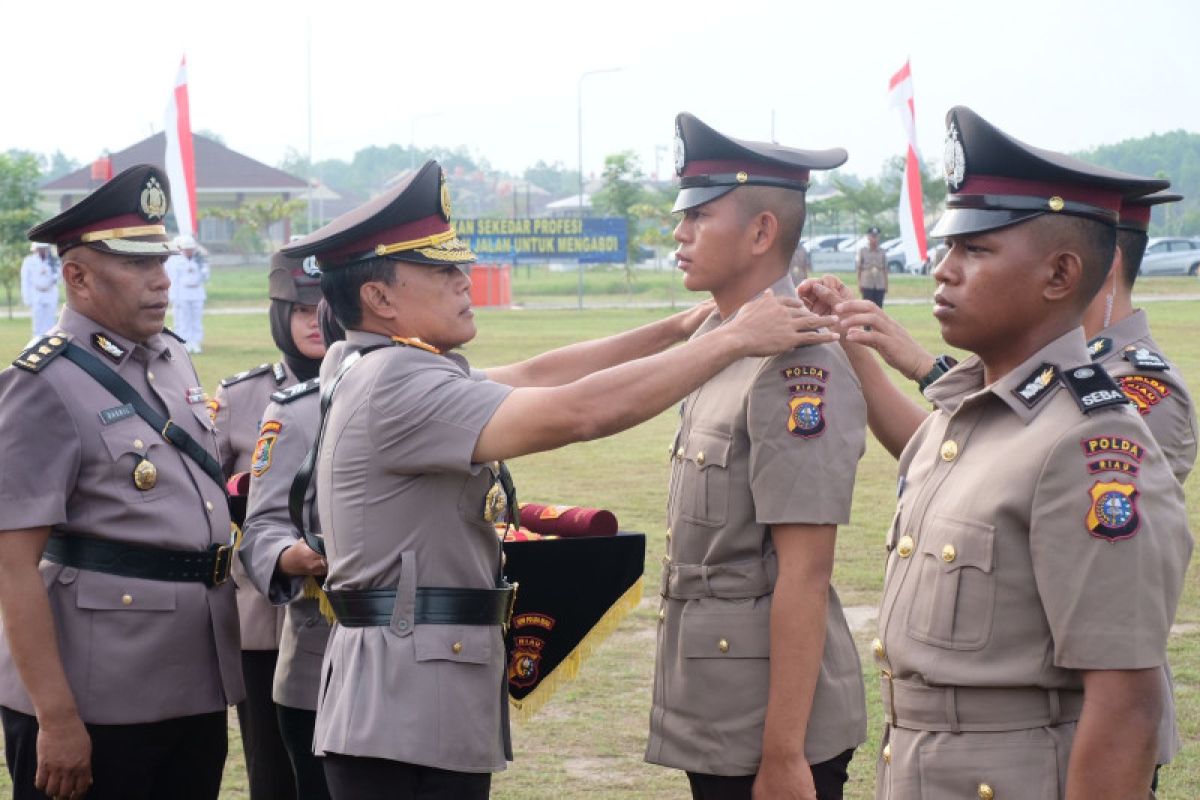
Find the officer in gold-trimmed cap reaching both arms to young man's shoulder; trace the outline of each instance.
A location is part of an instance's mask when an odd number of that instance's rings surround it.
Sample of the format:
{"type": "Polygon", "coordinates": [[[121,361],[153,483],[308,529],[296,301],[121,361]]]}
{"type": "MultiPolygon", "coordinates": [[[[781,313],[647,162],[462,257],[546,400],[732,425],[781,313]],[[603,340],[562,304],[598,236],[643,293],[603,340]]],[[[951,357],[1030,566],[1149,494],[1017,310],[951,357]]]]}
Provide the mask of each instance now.
{"type": "Polygon", "coordinates": [[[475,336],[460,269],[474,254],[449,224],[444,181],[426,162],[284,248],[316,255],[347,329],[342,359],[322,368],[332,403],[317,459],[338,621],[314,750],[337,800],[482,798],[511,757],[502,625],[512,595],[493,521],[515,497],[502,459],[616,433],[738,359],[834,338],[816,330],[827,318],[763,296],[670,350],[698,314],[485,377],[452,353],[475,336]]]}

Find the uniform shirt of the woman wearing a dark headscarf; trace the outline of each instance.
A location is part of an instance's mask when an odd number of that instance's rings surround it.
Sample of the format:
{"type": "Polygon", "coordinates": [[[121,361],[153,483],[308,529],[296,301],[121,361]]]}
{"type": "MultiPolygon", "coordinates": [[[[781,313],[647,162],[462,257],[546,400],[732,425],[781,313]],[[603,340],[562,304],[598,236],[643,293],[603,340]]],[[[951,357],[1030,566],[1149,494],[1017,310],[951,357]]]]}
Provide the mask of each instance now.
{"type": "MultiPolygon", "coordinates": [[[[295,374],[283,361],[271,365],[266,369],[263,367],[247,371],[247,373],[254,374],[246,378],[239,379],[240,375],[227,378],[209,403],[212,423],[217,428],[221,468],[227,477],[250,471],[263,409],[271,402],[272,392],[296,383],[295,374]],[[227,381],[228,386],[224,385],[227,381]]],[[[283,608],[274,608],[262,594],[254,590],[240,559],[234,559],[233,579],[238,585],[241,649],[277,650],[280,634],[283,630],[283,608]]]]}

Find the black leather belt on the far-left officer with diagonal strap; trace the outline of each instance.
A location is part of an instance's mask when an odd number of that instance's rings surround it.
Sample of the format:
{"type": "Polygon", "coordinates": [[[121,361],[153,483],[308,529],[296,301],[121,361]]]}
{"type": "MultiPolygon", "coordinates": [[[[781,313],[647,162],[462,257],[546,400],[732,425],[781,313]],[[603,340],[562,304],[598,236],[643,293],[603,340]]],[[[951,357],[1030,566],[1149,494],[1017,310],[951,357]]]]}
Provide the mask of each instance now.
{"type": "Polygon", "coordinates": [[[229,579],[233,552],[230,545],[212,545],[206,551],[172,551],[52,533],[42,557],[64,566],[126,578],[194,582],[206,587],[220,587],[229,579]]]}

